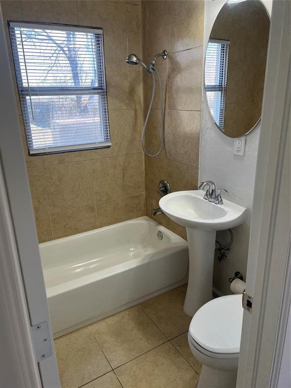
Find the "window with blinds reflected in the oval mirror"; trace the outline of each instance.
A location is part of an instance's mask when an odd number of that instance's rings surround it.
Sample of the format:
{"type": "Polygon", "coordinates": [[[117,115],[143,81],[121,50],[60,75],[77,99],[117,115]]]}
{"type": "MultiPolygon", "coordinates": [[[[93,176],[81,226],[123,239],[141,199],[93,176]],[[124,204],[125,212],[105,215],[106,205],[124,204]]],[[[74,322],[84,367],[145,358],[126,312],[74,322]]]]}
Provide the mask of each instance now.
{"type": "Polygon", "coordinates": [[[224,129],[229,43],[228,40],[210,39],[205,60],[207,101],[215,122],[222,130],[224,129]]]}

